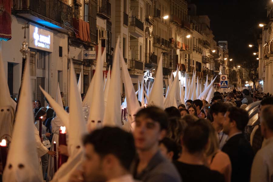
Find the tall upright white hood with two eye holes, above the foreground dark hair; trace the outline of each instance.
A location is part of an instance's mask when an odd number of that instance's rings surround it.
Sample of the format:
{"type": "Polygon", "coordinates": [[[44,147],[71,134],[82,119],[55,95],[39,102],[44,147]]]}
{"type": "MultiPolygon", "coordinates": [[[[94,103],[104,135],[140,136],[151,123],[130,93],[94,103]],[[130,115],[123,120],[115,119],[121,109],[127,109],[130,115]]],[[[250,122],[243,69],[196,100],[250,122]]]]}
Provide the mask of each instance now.
{"type": "MultiPolygon", "coordinates": [[[[106,49],[104,49],[105,51],[106,49]]],[[[103,52],[105,54],[105,52],[103,52]]],[[[90,105],[89,117],[87,121],[87,130],[101,127],[104,116],[104,95],[103,95],[103,61],[101,56],[101,42],[99,42],[98,57],[96,63],[96,72],[93,76],[94,87],[92,92],[92,103],[90,105]]]]}

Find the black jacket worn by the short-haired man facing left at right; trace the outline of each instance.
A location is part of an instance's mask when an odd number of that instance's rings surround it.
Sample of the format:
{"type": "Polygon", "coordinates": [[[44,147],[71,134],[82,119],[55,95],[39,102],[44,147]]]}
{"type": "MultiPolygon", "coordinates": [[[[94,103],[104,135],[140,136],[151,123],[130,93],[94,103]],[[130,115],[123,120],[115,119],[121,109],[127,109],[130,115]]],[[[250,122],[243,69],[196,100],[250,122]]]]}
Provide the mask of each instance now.
{"type": "Polygon", "coordinates": [[[231,182],[249,182],[254,153],[244,134],[232,136],[222,151],[227,153],[231,160],[231,182]]]}

